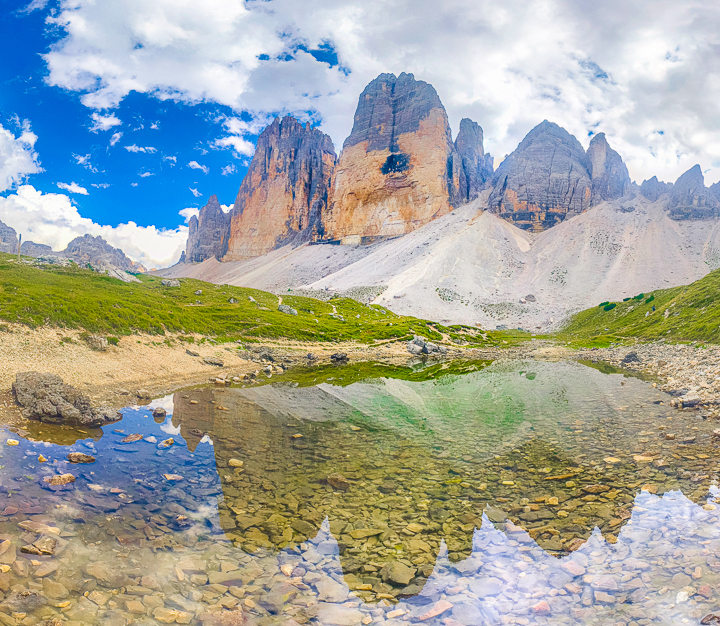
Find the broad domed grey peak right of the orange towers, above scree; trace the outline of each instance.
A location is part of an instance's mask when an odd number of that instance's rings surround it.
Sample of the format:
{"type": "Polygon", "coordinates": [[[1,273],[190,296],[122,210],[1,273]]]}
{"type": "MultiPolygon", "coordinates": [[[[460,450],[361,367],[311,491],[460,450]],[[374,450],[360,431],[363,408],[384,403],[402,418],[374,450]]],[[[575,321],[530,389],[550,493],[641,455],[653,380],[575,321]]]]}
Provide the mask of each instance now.
{"type": "Polygon", "coordinates": [[[498,167],[488,208],[520,228],[541,231],[589,209],[591,197],[585,150],[545,120],[498,167]]]}

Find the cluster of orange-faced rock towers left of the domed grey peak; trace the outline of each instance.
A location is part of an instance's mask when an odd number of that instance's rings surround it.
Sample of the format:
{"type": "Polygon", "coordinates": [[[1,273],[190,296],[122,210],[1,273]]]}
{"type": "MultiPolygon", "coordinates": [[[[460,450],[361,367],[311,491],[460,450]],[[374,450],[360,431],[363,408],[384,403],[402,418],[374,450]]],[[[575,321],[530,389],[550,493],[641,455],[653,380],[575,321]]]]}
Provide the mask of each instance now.
{"type": "Polygon", "coordinates": [[[455,142],[435,89],[381,74],[361,94],[338,157],[330,137],[276,118],[229,215],[211,199],[191,218],[185,262],[239,261],[307,241],[369,243],[411,232],[477,197],[492,174],[480,126],[455,142]]]}

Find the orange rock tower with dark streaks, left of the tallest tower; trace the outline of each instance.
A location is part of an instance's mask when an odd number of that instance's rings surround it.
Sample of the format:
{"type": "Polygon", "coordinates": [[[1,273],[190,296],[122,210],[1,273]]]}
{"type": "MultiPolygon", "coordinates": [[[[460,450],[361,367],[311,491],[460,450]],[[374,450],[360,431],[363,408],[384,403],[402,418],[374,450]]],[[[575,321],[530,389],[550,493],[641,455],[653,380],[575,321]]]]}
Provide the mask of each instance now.
{"type": "Polygon", "coordinates": [[[293,117],[276,118],[258,138],[240,185],[223,260],[261,256],[286,243],[322,237],[336,159],[330,137],[293,117]]]}

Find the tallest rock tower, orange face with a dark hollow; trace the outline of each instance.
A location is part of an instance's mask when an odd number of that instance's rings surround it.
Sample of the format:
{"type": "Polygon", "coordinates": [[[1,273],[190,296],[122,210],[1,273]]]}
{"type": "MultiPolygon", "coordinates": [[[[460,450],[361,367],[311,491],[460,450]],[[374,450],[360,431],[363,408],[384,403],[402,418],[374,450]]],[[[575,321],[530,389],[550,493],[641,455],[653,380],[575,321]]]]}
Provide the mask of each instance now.
{"type": "MultiPolygon", "coordinates": [[[[466,134],[470,166],[478,150],[466,134]]],[[[435,89],[412,74],[381,74],[360,95],[343,145],[325,239],[360,243],[409,233],[466,201],[467,188],[435,89]]]]}

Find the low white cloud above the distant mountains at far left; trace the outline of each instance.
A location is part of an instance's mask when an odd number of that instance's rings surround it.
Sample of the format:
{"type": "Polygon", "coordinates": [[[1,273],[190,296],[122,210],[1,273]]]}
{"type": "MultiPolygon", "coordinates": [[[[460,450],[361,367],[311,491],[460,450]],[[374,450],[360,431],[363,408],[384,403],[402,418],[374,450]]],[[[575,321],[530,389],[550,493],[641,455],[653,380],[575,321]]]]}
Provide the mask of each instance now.
{"type": "Polygon", "coordinates": [[[177,262],[187,241],[187,226],[163,230],[135,222],[97,224],[82,217],[65,194],[42,193],[31,185],[22,185],[16,193],[0,197],[0,215],[3,222],[22,233],[23,240],[64,250],[75,237],[100,235],[148,268],[177,262]]]}

